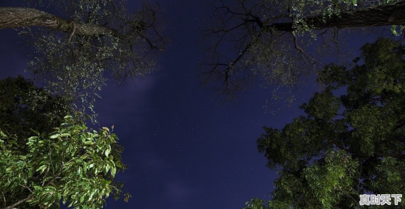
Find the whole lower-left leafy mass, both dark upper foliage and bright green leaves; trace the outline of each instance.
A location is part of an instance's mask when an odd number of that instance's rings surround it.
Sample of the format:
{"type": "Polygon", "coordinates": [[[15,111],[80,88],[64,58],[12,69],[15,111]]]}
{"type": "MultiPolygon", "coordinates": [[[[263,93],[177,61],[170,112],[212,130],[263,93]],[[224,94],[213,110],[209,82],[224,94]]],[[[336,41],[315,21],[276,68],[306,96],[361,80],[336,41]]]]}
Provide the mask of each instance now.
{"type": "Polygon", "coordinates": [[[122,195],[114,174],[127,169],[123,147],[108,128],[90,132],[70,104],[21,76],[0,80],[0,208],[59,208],[60,200],[94,208],[122,195]]]}

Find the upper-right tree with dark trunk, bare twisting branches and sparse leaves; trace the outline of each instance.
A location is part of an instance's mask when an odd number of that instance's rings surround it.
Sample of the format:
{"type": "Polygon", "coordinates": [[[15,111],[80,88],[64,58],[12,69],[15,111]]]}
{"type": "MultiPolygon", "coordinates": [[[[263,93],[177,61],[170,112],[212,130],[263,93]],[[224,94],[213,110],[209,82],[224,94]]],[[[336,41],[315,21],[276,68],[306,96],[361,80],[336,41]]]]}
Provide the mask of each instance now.
{"type": "Polygon", "coordinates": [[[315,69],[316,38],[331,48],[340,29],[392,26],[395,34],[405,29],[405,1],[221,0],[213,5],[213,23],[206,30],[213,43],[203,75],[231,96],[256,75],[265,85],[297,85],[315,69]]]}

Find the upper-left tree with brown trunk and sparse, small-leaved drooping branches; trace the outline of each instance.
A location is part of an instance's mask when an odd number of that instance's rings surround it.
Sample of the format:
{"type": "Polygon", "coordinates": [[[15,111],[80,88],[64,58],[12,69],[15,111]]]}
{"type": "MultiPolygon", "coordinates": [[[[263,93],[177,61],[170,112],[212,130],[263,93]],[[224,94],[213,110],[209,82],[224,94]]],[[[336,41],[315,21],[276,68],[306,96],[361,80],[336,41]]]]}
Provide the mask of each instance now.
{"type": "Polygon", "coordinates": [[[49,0],[0,7],[0,29],[19,28],[27,36],[33,48],[28,69],[41,74],[48,89],[92,109],[106,72],[122,81],[153,70],[155,51],[164,44],[157,10],[144,5],[129,14],[121,1],[49,0]]]}

